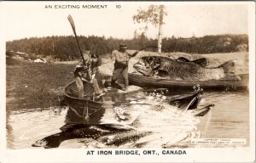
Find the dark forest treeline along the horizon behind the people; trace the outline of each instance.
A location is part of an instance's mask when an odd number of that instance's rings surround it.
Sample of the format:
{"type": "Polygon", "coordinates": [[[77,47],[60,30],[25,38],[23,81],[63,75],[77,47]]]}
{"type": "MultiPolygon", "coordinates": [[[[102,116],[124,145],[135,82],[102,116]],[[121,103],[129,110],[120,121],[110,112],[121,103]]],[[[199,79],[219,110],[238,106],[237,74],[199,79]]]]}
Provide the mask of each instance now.
{"type": "MultiPolygon", "coordinates": [[[[105,37],[79,36],[82,49],[102,55],[111,53],[119,48],[119,42],[125,42],[130,49],[157,51],[157,39],[150,39],[144,35],[124,40],[105,37]],[[148,47],[148,48],[147,48],[148,47]]],[[[248,50],[247,35],[218,35],[191,38],[163,38],[163,51],[183,53],[230,53],[248,50]]],[[[79,48],[75,37],[32,37],[12,42],[6,42],[7,51],[19,51],[42,57],[51,57],[60,60],[79,59],[79,48]]]]}

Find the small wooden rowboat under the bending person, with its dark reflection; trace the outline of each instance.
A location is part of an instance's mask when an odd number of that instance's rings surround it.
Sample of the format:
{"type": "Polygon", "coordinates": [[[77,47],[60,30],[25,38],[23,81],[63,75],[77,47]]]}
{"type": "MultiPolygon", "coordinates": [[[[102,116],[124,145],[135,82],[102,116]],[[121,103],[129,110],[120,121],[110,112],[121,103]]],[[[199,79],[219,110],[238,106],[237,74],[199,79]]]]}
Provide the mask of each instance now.
{"type": "Polygon", "coordinates": [[[78,98],[75,82],[64,88],[64,101],[68,106],[66,123],[88,124],[101,118],[102,101],[93,100],[94,89],[90,82],[84,81],[84,98],[78,98]]]}

